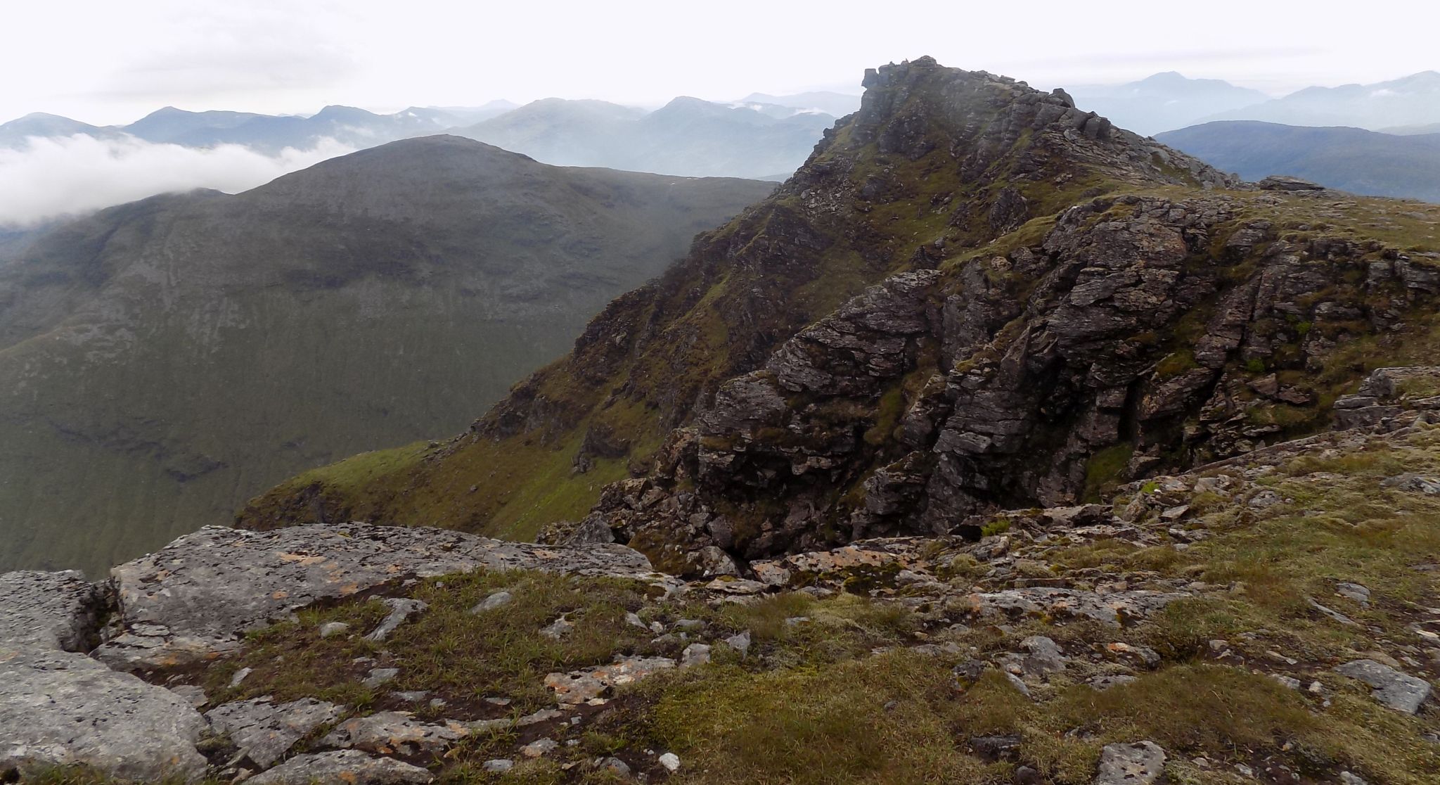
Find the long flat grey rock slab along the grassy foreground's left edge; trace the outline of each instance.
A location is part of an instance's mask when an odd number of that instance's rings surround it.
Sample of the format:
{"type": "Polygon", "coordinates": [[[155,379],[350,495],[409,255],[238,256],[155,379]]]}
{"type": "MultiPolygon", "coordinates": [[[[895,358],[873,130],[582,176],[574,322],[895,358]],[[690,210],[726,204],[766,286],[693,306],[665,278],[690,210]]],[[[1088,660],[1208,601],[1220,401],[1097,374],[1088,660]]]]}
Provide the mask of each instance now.
{"type": "Polygon", "coordinates": [[[477,569],[660,579],[644,555],[619,544],[540,546],[361,523],[209,526],[111,570],[124,632],[95,655],[125,668],[187,663],[232,651],[246,631],[320,599],[477,569]]]}

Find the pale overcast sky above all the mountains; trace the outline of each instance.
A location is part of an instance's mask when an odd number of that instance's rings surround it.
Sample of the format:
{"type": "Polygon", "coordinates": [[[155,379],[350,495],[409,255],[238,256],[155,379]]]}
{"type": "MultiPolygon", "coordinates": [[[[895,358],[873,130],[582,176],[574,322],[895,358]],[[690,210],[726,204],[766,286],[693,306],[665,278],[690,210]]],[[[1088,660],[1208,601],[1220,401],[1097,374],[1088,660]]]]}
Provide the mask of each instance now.
{"type": "Polygon", "coordinates": [[[920,55],[1045,88],[1179,71],[1284,92],[1440,68],[1434,0],[13,0],[0,19],[0,121],[860,92],[864,68],[920,55]]]}

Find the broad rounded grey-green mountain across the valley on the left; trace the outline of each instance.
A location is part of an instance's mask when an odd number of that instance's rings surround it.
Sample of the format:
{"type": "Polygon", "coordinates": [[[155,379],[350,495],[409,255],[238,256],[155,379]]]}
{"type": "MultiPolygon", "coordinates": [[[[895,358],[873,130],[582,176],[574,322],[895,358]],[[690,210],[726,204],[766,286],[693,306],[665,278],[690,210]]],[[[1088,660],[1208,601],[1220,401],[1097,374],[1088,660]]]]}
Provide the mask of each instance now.
{"type": "Polygon", "coordinates": [[[62,225],[0,266],[0,569],[105,568],[456,429],[772,189],[428,137],[62,225]]]}

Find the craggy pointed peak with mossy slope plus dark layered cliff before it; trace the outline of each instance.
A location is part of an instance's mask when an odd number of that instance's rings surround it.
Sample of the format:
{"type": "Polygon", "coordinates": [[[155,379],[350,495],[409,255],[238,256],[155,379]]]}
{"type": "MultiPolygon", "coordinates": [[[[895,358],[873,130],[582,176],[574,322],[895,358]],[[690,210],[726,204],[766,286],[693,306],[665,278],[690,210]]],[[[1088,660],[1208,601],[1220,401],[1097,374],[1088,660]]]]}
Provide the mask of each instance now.
{"type": "Polygon", "coordinates": [[[969,530],[1323,426],[1434,294],[1408,223],[1333,230],[1369,203],[1251,190],[1061,91],[927,58],[865,85],[775,196],[471,434],[367,483],[291,483],[242,523],[318,506],[526,537],[599,497],[586,531],[677,570],[969,530]]]}

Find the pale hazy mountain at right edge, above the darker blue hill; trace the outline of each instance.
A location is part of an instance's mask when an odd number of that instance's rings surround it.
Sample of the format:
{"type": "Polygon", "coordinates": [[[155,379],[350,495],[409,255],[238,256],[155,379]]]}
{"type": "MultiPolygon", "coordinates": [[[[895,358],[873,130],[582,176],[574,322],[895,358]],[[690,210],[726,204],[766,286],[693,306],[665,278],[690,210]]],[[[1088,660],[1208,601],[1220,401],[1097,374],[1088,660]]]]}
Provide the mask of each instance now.
{"type": "Polygon", "coordinates": [[[1440,72],[1424,71],[1374,85],[1305,88],[1210,120],[1260,120],[1284,125],[1348,125],[1381,130],[1440,122],[1440,72]]]}

